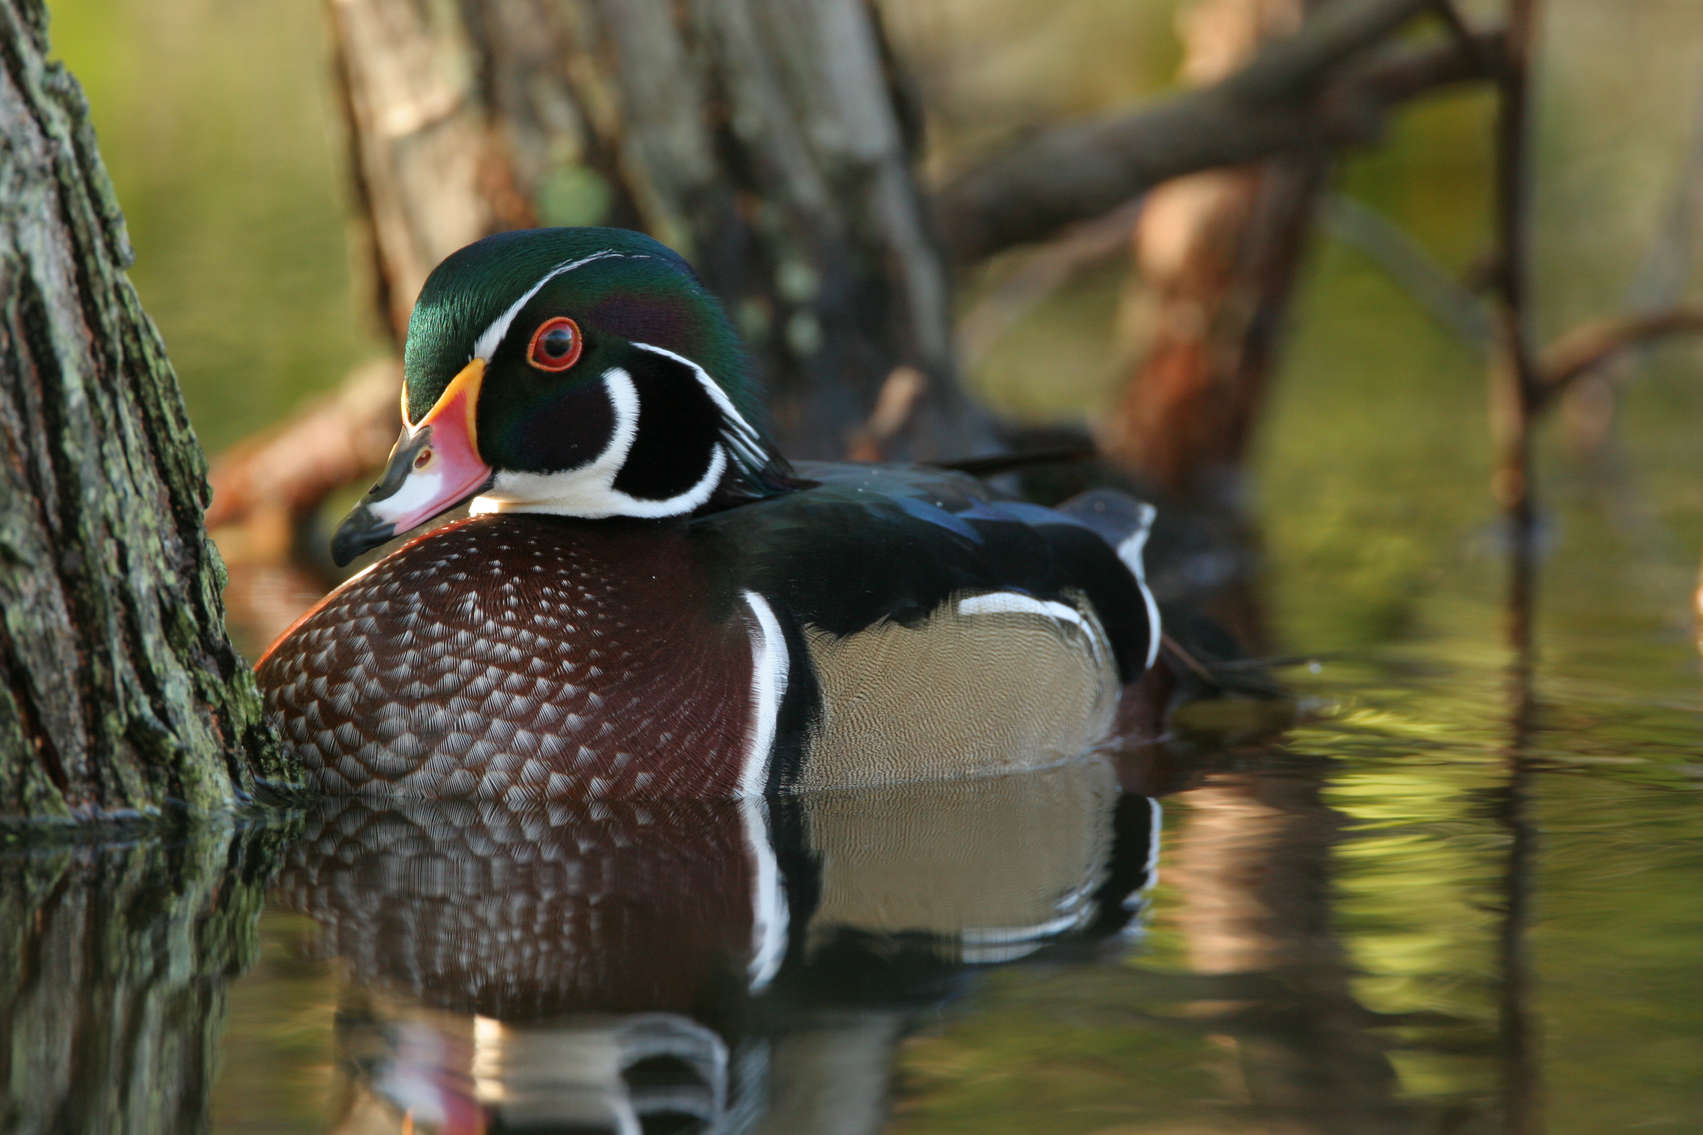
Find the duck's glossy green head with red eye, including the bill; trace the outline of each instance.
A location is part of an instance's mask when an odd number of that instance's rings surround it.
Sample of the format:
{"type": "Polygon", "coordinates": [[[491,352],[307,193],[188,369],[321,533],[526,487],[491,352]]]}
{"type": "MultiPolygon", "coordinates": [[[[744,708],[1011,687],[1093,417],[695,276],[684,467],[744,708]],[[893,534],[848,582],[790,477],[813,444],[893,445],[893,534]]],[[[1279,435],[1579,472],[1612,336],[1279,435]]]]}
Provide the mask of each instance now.
{"type": "Polygon", "coordinates": [[[332,538],[339,565],[470,497],[475,514],[657,519],[787,478],[720,305],[618,228],[499,233],[439,264],[409,318],[402,422],[332,538]]]}

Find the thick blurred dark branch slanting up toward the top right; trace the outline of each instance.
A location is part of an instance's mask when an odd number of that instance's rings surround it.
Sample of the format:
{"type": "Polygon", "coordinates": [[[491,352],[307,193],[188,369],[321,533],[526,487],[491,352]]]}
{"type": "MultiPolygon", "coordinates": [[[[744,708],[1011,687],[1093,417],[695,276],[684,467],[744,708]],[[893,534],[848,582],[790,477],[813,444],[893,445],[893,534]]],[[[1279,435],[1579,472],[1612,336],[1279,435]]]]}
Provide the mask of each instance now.
{"type": "Polygon", "coordinates": [[[1012,146],[938,192],[949,252],[972,264],[1100,216],[1184,174],[1376,138],[1391,106],[1483,78],[1487,63],[1500,56],[1500,32],[1477,32],[1471,54],[1449,41],[1350,65],[1429,3],[1335,3],[1213,87],[1012,146]]]}

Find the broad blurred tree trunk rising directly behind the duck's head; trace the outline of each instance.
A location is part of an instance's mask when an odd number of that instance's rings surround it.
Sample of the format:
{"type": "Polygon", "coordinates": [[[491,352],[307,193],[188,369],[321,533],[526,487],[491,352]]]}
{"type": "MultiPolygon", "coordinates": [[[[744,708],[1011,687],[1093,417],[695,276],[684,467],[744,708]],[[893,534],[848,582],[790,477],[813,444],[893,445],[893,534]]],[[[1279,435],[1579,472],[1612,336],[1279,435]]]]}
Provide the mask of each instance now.
{"type": "Polygon", "coordinates": [[[399,337],[468,240],[642,228],[727,305],[790,456],[867,448],[884,390],[886,419],[904,403],[884,453],[986,448],[954,381],[913,117],[863,0],[337,0],[332,27],[399,337]]]}

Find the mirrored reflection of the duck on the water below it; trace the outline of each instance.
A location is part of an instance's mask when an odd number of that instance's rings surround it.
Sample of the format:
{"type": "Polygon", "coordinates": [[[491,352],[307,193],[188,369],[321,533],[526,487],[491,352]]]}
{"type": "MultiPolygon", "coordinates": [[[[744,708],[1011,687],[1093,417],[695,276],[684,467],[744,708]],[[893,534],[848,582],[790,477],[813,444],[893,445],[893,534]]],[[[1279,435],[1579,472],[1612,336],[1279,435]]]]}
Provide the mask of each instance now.
{"type": "Polygon", "coordinates": [[[787,800],[329,801],[335,1132],[879,1130],[909,1023],[1127,936],[1158,807],[1098,759],[787,800]]]}

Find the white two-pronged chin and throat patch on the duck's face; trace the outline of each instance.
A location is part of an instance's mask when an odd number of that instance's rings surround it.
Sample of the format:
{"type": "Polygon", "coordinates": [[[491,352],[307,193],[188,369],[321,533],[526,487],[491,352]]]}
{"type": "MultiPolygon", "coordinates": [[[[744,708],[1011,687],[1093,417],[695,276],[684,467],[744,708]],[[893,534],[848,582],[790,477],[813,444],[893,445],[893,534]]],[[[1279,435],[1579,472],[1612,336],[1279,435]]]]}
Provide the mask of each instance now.
{"type": "Polygon", "coordinates": [[[668,500],[645,500],[623,493],[615,478],[627,463],[627,454],[639,436],[639,388],[632,374],[613,368],[603,374],[603,390],[615,410],[615,431],[608,448],[591,463],[562,473],[497,473],[490,488],[473,499],[468,512],[547,512],[552,516],[577,516],[598,521],[608,516],[659,519],[685,516],[700,507],[720,485],[727,471],[727,451],[717,442],[710,449],[710,465],[697,485],[668,500]]]}

